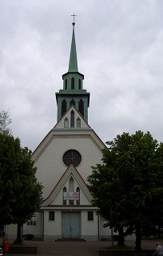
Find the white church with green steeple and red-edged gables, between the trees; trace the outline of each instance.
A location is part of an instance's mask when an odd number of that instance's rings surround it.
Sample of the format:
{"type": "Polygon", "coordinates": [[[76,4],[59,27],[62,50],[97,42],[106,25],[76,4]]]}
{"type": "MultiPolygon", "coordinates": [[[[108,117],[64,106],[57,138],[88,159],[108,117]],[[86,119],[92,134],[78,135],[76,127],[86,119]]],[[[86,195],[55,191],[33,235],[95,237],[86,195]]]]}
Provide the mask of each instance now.
{"type": "MultiPolygon", "coordinates": [[[[90,94],[84,89],[84,75],[78,71],[75,23],[72,25],[68,72],[62,75],[62,89],[55,94],[57,123],[32,154],[36,177],[44,186],[44,200],[41,211],[24,224],[23,234],[43,241],[100,241],[111,234],[103,227],[87,188],[91,166],[101,163],[105,144],[89,126],[90,94]]],[[[15,238],[14,226],[6,226],[6,234],[15,238]]]]}

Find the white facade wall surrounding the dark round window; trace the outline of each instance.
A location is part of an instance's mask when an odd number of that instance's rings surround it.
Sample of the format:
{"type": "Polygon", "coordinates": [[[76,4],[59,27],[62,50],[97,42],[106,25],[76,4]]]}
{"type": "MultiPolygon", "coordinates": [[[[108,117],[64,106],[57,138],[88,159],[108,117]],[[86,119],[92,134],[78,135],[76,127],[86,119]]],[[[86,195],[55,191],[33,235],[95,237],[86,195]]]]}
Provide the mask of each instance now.
{"type": "Polygon", "coordinates": [[[85,180],[89,174],[92,173],[90,166],[96,166],[101,162],[101,150],[94,144],[90,137],[82,135],[70,138],[54,138],[46,149],[42,152],[35,166],[38,167],[36,176],[39,182],[42,182],[43,197],[49,196],[54,186],[58,183],[62,174],[66,171],[67,167],[62,162],[62,156],[66,150],[78,150],[81,154],[81,164],[77,167],[79,174],[85,180]]]}

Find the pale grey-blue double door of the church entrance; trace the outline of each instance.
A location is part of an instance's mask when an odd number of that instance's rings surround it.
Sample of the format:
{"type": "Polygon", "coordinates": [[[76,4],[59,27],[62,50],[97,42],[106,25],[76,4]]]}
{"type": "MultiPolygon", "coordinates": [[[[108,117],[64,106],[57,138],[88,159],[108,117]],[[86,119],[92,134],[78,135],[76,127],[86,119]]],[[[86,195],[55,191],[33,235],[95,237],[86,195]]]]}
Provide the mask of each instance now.
{"type": "Polygon", "coordinates": [[[63,213],[63,238],[80,238],[79,213],[63,213]]]}

